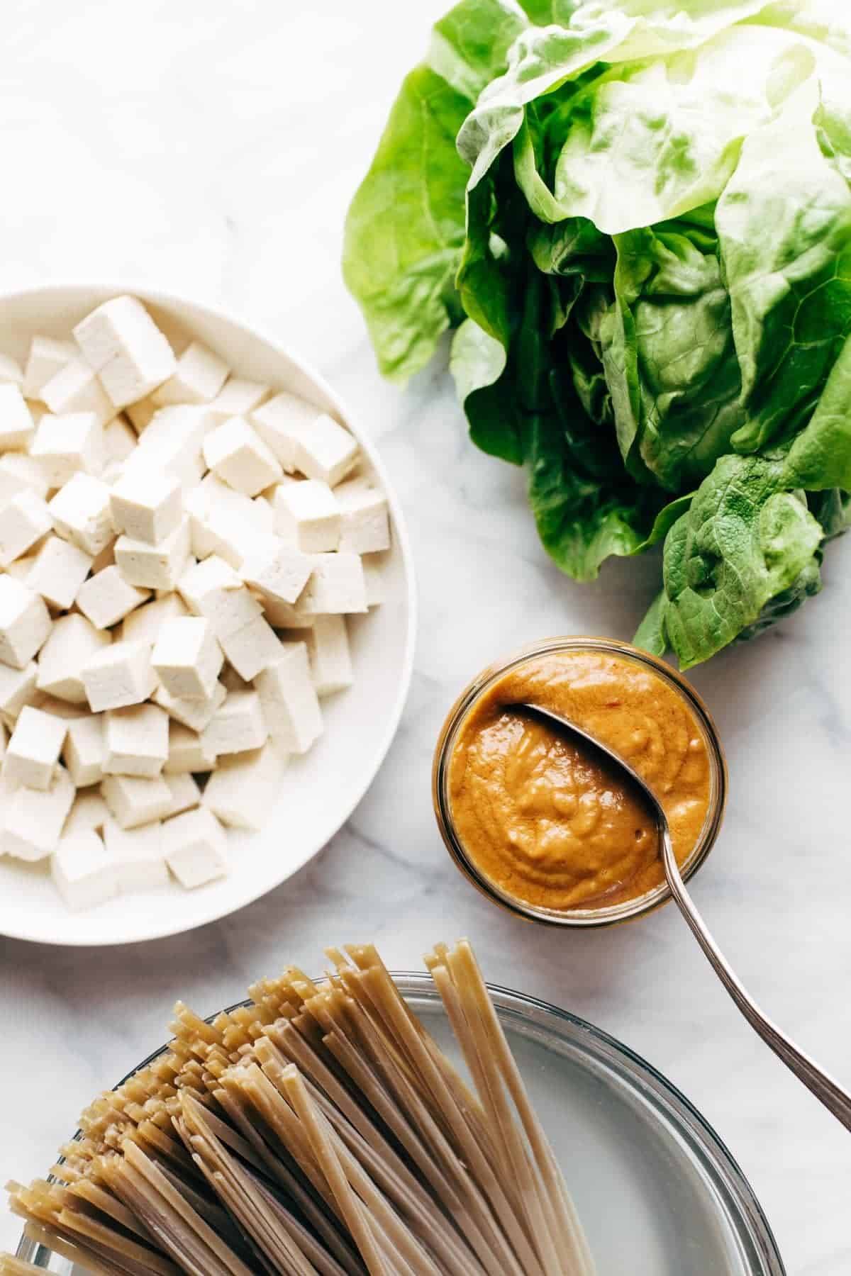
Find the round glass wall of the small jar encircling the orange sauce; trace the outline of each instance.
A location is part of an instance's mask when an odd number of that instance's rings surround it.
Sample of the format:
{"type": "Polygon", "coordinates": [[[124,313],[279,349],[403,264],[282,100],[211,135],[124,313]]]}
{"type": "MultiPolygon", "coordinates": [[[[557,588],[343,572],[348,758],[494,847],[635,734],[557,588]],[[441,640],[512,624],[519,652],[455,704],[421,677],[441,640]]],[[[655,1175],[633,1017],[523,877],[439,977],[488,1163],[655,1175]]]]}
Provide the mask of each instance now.
{"type": "Polygon", "coordinates": [[[655,674],[663,679],[677,695],[688,703],[698,730],[703,736],[707,757],[709,759],[709,806],[700,836],[698,837],[690,855],[680,865],[684,880],[697,873],[707,855],[712,850],[721,822],[727,796],[727,767],[723,750],[718,739],[714,722],[709,712],[694,690],[675,670],[665,661],[649,656],[646,651],[630,646],[630,643],[616,642],[614,638],[547,638],[542,642],[529,643],[529,646],[513,652],[504,660],[499,660],[482,670],[477,678],[470,683],[461,693],[453,707],[449,709],[447,721],[443,725],[434,754],[434,767],[431,773],[431,792],[434,800],[438,828],[444,840],[447,850],[452,855],[457,866],[475,887],[477,887],[489,900],[501,905],[510,912],[526,917],[529,921],[544,921],[556,926],[610,926],[619,921],[632,921],[658,909],[671,898],[671,893],[665,883],[648,891],[634,900],[624,900],[621,903],[598,906],[593,909],[545,909],[518,900],[513,894],[503,891],[495,882],[480,872],[475,860],[467,854],[462,838],[458,836],[455,822],[452,814],[452,799],[449,795],[449,772],[452,754],[458,739],[458,734],[464,720],[476,702],[487,692],[498,679],[508,670],[523,665],[536,656],[550,656],[558,652],[601,651],[610,652],[638,665],[649,666],[655,674]]]}

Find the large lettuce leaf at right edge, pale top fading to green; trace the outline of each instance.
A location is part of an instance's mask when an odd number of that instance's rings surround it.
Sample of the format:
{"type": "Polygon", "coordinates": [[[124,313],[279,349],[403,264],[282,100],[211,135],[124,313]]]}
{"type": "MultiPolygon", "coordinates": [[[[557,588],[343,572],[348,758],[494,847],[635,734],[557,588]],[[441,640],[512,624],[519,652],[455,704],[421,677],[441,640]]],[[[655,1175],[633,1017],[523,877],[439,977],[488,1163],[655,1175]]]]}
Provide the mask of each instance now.
{"type": "MultiPolygon", "coordinates": [[[[716,209],[748,410],[739,452],[800,429],[851,334],[851,189],[819,147],[818,110],[810,79],[746,139],[716,209]]],[[[848,486],[825,477],[834,485],[848,486]]]]}

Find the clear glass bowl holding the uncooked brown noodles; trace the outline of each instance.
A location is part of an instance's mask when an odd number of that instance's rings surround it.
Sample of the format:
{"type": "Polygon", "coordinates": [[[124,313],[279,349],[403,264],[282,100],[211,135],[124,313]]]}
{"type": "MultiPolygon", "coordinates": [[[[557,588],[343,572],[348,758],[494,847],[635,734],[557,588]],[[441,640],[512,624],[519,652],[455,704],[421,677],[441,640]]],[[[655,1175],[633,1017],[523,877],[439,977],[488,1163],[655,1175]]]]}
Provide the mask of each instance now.
{"type": "MultiPolygon", "coordinates": [[[[430,976],[394,979],[458,1062],[430,976]]],[[[583,1020],[519,993],[491,993],[600,1276],[785,1276],[748,1180],[688,1099],[583,1020]]],[[[18,1256],[73,1271],[28,1240],[18,1256]]]]}

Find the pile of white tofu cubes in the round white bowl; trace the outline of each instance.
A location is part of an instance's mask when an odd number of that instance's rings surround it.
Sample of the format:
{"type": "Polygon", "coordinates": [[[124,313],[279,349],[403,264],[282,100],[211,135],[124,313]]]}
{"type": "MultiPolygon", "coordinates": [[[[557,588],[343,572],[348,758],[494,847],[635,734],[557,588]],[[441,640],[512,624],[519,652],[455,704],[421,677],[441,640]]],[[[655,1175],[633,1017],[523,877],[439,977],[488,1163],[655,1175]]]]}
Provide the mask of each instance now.
{"type": "Polygon", "coordinates": [[[0,356],[0,854],[71,909],[226,874],[352,683],[388,546],[342,425],[134,297],[0,356]]]}

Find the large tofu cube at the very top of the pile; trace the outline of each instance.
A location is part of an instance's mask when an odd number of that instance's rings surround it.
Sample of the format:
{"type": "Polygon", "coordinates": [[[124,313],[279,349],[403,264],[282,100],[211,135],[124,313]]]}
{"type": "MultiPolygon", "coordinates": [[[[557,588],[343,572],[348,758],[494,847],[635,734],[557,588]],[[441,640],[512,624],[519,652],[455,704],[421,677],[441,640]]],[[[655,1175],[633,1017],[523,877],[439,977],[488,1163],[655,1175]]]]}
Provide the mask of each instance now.
{"type": "Polygon", "coordinates": [[[167,338],[135,297],[105,301],[77,324],[74,337],[116,408],[157,389],[176,366],[167,338]]]}

